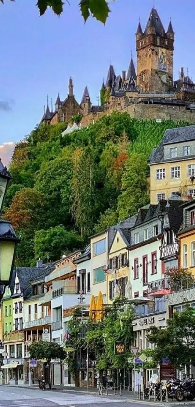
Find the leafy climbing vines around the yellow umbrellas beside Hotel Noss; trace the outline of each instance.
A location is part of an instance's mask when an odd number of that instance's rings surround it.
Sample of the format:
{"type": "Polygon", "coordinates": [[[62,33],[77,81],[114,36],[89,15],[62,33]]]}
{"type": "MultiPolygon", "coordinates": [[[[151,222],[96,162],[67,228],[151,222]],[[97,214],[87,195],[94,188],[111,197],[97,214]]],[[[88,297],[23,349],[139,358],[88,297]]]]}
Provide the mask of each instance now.
{"type": "Polygon", "coordinates": [[[73,376],[77,369],[77,352],[81,348],[84,352],[89,349],[89,359],[96,361],[98,370],[111,369],[112,374],[116,369],[130,367],[133,360],[130,345],[133,339],[131,306],[125,305],[125,298],[117,298],[112,307],[106,312],[106,318],[94,321],[89,318],[83,322],[80,311],[77,309],[73,319],[69,322],[69,340],[67,347],[73,348],[68,356],[68,366],[73,376]],[[84,329],[83,329],[84,327],[84,329]],[[84,335],[82,335],[84,332],[84,335]],[[115,342],[126,342],[126,355],[115,355],[115,342]]]}

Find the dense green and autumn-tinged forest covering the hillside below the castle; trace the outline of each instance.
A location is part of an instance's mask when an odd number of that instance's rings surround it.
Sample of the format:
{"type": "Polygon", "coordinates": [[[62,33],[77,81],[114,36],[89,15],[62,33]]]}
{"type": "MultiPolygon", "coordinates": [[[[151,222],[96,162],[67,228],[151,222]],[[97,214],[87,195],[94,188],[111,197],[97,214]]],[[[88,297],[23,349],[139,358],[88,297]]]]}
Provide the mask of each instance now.
{"type": "Polygon", "coordinates": [[[17,143],[4,208],[21,237],[17,265],[57,260],[135,214],[149,202],[152,149],[166,129],[189,124],[114,112],[65,136],[67,123],[43,124],[17,143]]]}

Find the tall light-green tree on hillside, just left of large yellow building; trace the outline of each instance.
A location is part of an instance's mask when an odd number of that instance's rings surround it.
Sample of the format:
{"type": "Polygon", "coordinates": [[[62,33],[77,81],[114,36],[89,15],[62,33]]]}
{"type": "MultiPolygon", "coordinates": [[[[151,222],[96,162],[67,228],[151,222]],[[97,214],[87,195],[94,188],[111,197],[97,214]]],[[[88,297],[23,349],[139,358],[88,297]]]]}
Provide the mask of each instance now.
{"type": "Polygon", "coordinates": [[[132,153],[122,176],[117,208],[119,220],[134,215],[148,202],[147,161],[143,154],[132,153]]]}

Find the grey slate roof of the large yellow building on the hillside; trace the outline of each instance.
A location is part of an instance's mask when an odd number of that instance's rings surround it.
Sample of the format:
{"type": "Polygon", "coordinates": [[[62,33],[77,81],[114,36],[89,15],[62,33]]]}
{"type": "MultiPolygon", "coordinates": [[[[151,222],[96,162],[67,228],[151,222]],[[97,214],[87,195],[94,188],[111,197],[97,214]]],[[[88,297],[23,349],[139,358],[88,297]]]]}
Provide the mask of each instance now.
{"type": "MultiPolygon", "coordinates": [[[[195,125],[167,129],[160,144],[150,155],[150,164],[164,161],[164,145],[190,140],[195,140],[195,125]]],[[[175,161],[175,158],[172,161],[175,161]]]]}

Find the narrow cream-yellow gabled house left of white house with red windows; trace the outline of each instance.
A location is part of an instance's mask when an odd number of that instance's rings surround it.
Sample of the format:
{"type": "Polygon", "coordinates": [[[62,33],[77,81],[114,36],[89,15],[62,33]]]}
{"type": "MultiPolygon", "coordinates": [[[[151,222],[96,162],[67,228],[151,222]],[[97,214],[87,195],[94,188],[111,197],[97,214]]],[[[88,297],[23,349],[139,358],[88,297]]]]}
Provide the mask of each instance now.
{"type": "Polygon", "coordinates": [[[130,233],[128,229],[120,229],[115,236],[108,253],[109,270],[107,273],[107,302],[111,304],[115,295],[125,295],[126,284],[129,280],[129,246],[130,233]],[[117,285],[117,287],[116,287],[117,285]]]}

